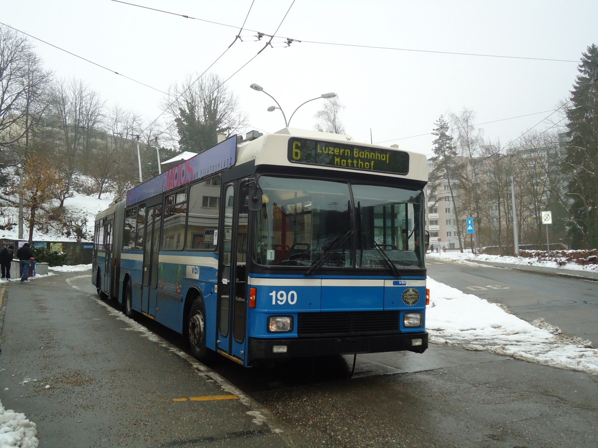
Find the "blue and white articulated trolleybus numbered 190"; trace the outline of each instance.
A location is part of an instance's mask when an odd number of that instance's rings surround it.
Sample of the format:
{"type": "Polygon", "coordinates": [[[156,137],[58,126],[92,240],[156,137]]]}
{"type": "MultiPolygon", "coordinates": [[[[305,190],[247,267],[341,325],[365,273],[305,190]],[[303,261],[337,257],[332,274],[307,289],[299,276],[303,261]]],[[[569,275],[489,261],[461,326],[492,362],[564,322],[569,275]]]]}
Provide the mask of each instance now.
{"type": "Polygon", "coordinates": [[[428,348],[425,155],[284,128],[170,168],[97,215],[92,281],[242,366],[428,348]]]}

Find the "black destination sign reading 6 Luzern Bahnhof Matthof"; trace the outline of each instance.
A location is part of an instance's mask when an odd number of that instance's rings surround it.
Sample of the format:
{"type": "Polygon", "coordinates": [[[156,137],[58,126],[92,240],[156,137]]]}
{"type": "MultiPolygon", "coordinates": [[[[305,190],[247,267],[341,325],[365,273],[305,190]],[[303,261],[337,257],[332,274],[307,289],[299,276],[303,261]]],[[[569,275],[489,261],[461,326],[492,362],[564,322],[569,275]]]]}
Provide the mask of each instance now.
{"type": "Polygon", "coordinates": [[[404,151],[368,148],[350,143],[289,139],[289,162],[325,165],[352,170],[405,175],[409,172],[409,154],[404,151]]]}

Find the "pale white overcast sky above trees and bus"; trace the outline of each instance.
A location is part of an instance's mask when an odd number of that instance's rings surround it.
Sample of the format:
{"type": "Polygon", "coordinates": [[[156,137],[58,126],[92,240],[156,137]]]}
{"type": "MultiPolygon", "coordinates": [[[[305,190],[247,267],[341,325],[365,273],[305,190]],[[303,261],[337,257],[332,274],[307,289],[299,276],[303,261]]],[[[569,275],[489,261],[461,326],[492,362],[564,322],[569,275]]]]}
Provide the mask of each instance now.
{"type": "MultiPolygon", "coordinates": [[[[517,138],[568,99],[582,52],[598,44],[596,0],[132,4],[167,12],[112,0],[20,0],[2,2],[0,22],[107,67],[32,39],[57,76],[82,79],[109,105],[148,121],[160,114],[164,94],[157,90],[208,70],[224,53],[209,71],[231,77],[227,85],[248,112],[249,129],[284,127],[279,111],[266,111],[273,101],[249,88],[253,82],[277,99],[287,118],[304,101],[332,91],[346,107],[341,121],[356,140],[370,142],[371,132],[374,143],[426,154],[438,116],[463,108],[476,113],[477,123],[535,114],[481,126],[503,145],[517,138]],[[242,41],[226,51],[244,22],[242,41]],[[257,32],[280,37],[255,57],[269,39],[258,42],[257,32]],[[286,38],[295,41],[287,47],[286,38]]],[[[323,102],[303,106],[291,125],[312,129],[323,102]]],[[[560,119],[555,113],[535,129],[560,119]]]]}

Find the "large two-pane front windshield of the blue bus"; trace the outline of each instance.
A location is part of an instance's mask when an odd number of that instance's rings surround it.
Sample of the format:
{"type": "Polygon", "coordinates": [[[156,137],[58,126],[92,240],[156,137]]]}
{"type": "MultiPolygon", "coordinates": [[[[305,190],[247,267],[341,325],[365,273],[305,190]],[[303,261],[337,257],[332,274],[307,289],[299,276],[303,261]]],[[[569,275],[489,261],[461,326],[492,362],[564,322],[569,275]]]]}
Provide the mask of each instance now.
{"type": "Polygon", "coordinates": [[[254,262],[320,268],[423,268],[423,192],[390,186],[261,176],[254,262]]]}

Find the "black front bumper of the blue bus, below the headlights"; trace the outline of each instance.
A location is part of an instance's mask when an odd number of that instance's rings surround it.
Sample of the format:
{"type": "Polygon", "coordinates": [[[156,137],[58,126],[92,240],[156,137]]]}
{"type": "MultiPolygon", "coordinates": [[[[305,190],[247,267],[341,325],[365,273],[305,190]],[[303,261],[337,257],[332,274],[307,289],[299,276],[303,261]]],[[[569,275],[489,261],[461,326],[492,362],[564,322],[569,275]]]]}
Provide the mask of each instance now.
{"type": "Polygon", "coordinates": [[[249,338],[248,363],[257,360],[411,351],[428,348],[428,333],[401,333],[382,336],[309,337],[297,339],[249,338]]]}

